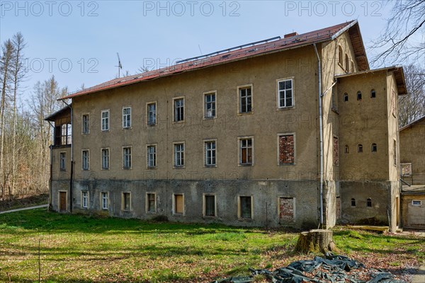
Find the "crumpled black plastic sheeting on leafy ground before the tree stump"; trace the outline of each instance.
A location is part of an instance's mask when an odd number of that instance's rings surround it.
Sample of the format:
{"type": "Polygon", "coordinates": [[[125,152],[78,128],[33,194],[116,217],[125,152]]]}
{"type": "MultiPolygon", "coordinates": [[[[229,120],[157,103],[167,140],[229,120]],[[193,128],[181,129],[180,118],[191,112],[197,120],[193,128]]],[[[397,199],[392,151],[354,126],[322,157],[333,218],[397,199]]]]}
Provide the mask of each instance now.
{"type": "Polygon", "coordinates": [[[248,277],[229,277],[215,280],[211,283],[249,283],[254,282],[256,275],[263,275],[273,283],[301,283],[301,282],[331,282],[331,283],[406,283],[394,279],[393,275],[380,270],[365,268],[363,263],[351,260],[343,255],[327,253],[325,258],[314,257],[313,260],[299,260],[292,262],[287,267],[280,267],[271,272],[269,270],[251,270],[248,277]],[[320,269],[320,270],[319,270],[320,269]],[[324,272],[324,270],[326,272],[324,272]],[[356,272],[357,271],[357,272],[356,272]],[[307,272],[312,277],[307,277],[307,272]],[[349,272],[349,273],[348,273],[349,272]],[[371,279],[364,281],[358,278],[360,273],[367,273],[371,279]]]}

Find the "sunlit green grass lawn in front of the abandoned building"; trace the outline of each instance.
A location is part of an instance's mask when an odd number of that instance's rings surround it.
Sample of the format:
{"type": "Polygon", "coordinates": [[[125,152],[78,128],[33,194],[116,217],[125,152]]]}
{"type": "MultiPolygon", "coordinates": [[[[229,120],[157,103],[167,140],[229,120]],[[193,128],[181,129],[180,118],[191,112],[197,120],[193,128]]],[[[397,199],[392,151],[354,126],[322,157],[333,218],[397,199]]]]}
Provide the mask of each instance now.
{"type": "MultiPolygon", "coordinates": [[[[313,255],[297,233],[96,218],[35,209],[0,215],[0,282],[210,282],[313,255]]],[[[425,239],[334,229],[341,254],[402,272],[424,262],[425,239]]]]}

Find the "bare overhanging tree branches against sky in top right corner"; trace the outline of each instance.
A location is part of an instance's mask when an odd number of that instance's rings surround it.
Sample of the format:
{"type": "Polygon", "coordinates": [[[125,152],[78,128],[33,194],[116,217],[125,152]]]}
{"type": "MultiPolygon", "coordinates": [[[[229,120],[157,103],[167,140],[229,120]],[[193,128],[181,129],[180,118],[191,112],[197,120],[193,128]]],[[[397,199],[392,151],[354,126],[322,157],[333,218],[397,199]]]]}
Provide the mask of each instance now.
{"type": "Polygon", "coordinates": [[[425,28],[424,0],[395,0],[392,3],[391,16],[387,27],[378,40],[373,42],[373,49],[384,49],[376,55],[372,64],[391,63],[414,58],[422,62],[425,59],[425,42],[420,38],[425,28]]]}

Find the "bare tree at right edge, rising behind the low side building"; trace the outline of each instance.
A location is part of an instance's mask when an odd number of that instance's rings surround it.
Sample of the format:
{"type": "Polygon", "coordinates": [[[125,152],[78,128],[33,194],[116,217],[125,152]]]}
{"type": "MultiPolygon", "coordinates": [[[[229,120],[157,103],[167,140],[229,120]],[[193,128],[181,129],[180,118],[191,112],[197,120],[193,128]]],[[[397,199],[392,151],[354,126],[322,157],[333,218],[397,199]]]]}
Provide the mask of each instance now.
{"type": "Polygon", "coordinates": [[[404,67],[407,95],[399,99],[399,127],[425,115],[425,68],[414,64],[404,67]]]}

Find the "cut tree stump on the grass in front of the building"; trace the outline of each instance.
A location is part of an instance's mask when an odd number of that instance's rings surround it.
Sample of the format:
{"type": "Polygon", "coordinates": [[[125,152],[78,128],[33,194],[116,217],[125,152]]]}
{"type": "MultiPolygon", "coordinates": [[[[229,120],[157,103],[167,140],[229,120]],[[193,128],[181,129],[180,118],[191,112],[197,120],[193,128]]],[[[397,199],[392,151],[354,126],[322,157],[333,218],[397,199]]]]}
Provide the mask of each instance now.
{"type": "Polygon", "coordinates": [[[333,240],[334,233],[330,230],[314,229],[300,233],[300,237],[295,246],[295,251],[299,253],[337,251],[333,240]]]}

